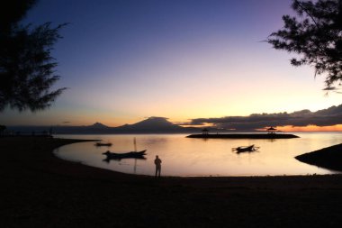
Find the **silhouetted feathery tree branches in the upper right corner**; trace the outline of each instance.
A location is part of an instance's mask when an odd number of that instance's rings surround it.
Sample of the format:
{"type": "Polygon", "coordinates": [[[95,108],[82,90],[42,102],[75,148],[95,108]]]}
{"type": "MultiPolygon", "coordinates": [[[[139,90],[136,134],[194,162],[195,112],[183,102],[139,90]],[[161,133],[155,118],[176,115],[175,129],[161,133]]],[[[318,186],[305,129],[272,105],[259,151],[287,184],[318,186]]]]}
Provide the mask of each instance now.
{"type": "Polygon", "coordinates": [[[293,0],[297,17],[284,15],[282,30],[267,41],[276,50],[298,54],[293,66],[309,65],[326,77],[326,89],[342,81],[342,0],[293,0]]]}

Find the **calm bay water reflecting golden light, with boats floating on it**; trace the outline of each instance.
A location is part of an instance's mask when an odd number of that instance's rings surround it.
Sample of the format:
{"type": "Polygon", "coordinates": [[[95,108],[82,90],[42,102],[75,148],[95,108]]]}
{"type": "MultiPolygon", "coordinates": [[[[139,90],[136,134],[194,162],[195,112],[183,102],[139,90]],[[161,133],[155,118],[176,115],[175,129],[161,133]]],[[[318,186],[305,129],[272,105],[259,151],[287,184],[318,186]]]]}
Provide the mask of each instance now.
{"type": "Polygon", "coordinates": [[[94,139],[112,142],[112,147],[95,147],[94,142],[63,146],[55,154],[65,160],[124,173],[154,175],[156,155],[162,160],[164,176],[267,176],[333,174],[295,160],[302,153],[342,143],[342,132],[294,133],[301,138],[284,140],[189,139],[185,134],[56,135],[59,138],[94,139]],[[146,160],[103,161],[106,150],[147,150],[146,160]],[[255,144],[255,152],[237,154],[232,148],[255,144]]]}

